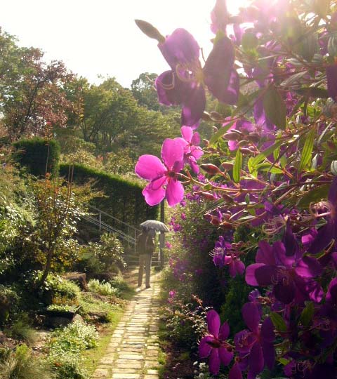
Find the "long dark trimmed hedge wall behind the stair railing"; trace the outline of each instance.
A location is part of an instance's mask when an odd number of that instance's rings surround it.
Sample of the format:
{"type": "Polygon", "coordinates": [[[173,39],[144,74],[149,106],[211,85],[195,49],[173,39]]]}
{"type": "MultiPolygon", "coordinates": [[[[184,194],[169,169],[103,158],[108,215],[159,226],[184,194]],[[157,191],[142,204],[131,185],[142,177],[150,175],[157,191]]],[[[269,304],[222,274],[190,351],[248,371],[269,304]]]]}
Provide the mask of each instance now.
{"type": "MultiPolygon", "coordinates": [[[[60,175],[68,178],[72,165],[60,164],[60,175]]],[[[81,164],[74,164],[73,180],[77,184],[93,181],[93,188],[103,192],[105,197],[91,200],[91,205],[110,213],[130,225],[139,226],[144,220],[156,220],[158,206],[148,206],[137,183],[129,182],[117,175],[111,175],[81,164]]],[[[112,225],[112,220],[106,222],[112,225]]]]}

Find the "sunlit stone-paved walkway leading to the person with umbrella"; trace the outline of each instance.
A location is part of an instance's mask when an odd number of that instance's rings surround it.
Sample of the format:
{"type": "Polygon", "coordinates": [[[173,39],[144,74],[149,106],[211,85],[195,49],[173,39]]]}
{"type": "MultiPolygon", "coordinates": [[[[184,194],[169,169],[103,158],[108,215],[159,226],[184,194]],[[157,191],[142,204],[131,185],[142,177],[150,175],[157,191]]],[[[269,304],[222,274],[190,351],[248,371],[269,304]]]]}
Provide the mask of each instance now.
{"type": "MultiPolygon", "coordinates": [[[[135,283],[136,272],[131,279],[135,283]]],[[[159,274],[136,293],[117,325],[93,379],[158,379],[159,274]]]]}

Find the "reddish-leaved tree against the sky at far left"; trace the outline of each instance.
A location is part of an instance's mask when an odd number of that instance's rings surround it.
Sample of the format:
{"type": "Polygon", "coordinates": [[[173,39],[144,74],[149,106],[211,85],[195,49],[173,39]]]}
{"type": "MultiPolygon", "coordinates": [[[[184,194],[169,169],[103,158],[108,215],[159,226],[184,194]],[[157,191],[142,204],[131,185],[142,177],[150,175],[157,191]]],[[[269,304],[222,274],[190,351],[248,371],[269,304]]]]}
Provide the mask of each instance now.
{"type": "Polygon", "coordinates": [[[46,64],[39,49],[19,47],[2,30],[0,47],[0,107],[11,138],[48,135],[51,124],[65,126],[72,102],[63,87],[72,74],[62,62],[46,64]]]}

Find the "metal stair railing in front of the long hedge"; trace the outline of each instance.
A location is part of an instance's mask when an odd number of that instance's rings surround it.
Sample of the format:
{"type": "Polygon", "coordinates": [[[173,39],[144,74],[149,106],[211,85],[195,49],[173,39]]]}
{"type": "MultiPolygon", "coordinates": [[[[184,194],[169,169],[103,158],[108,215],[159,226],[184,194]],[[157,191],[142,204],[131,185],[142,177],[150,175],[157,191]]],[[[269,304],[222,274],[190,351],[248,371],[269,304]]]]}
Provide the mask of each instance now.
{"type": "Polygon", "coordinates": [[[106,213],[105,211],[102,211],[101,209],[96,208],[95,206],[91,206],[89,204],[86,205],[88,208],[93,209],[93,211],[97,213],[98,218],[95,218],[93,215],[85,215],[84,220],[91,222],[93,225],[96,225],[100,231],[105,230],[107,232],[117,234],[119,238],[124,239],[124,241],[128,243],[128,246],[130,246],[130,244],[133,245],[133,249],[136,253],[136,237],[138,232],[140,232],[139,229],[127,224],[124,221],[119,220],[118,218],[110,215],[109,213],[106,213]],[[121,227],[115,227],[103,221],[102,215],[105,215],[107,218],[114,220],[113,223],[117,225],[119,224],[121,227]]]}

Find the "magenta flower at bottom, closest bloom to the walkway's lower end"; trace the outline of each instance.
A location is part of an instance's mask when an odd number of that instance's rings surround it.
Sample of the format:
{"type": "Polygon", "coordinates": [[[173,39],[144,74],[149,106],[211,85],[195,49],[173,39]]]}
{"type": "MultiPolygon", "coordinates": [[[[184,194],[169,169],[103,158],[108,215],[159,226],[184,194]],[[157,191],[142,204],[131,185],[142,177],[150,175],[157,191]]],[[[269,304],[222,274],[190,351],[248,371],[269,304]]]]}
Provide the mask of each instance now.
{"type": "Polygon", "coordinates": [[[209,334],[201,338],[199,344],[199,357],[209,357],[209,371],[217,375],[220,363],[228,366],[233,358],[232,347],[225,342],[230,335],[230,327],[225,322],[220,327],[220,317],[215,310],[210,310],[206,315],[209,334]]]}

